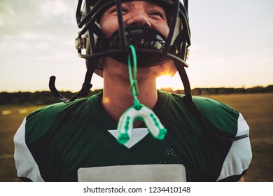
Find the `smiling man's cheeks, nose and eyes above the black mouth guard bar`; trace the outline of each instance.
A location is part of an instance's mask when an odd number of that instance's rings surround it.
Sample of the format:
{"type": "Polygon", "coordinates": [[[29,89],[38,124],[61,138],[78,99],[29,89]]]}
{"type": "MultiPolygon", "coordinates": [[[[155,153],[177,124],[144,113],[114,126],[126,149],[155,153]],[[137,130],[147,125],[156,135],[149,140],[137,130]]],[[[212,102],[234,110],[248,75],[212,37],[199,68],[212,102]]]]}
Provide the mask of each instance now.
{"type": "MultiPolygon", "coordinates": [[[[143,25],[160,31],[167,38],[169,27],[165,10],[147,1],[129,1],[122,3],[124,26],[143,25]]],[[[106,10],[100,20],[102,32],[107,38],[118,30],[118,13],[116,6],[106,10]]]]}

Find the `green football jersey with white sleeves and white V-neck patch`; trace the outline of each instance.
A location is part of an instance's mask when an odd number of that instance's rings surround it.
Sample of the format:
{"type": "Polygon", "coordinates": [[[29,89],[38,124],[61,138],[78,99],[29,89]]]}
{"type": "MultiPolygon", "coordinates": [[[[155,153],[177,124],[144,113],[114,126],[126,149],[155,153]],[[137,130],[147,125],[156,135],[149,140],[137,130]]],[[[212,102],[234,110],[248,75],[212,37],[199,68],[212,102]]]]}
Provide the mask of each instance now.
{"type": "Polygon", "coordinates": [[[80,168],[183,165],[187,181],[239,180],[251,162],[250,141],[249,137],[230,139],[248,135],[244,118],[221,102],[193,97],[208,129],[181,97],[158,91],[153,111],[167,129],[165,139],[154,139],[141,125],[125,145],[115,138],[118,124],[102,107],[102,92],[34,111],[14,137],[18,176],[31,181],[78,181],[80,168]]]}

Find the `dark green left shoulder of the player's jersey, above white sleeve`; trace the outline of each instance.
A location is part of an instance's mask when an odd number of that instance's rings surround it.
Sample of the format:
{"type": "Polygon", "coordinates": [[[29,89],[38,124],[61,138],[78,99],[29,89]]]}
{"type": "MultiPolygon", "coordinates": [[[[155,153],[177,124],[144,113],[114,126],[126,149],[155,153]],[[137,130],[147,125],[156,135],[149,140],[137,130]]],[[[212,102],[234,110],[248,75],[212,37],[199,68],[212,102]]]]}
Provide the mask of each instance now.
{"type": "Polygon", "coordinates": [[[26,135],[35,140],[45,134],[65,134],[90,122],[94,116],[90,111],[89,99],[76,99],[68,104],[51,104],[30,113],[25,123],[26,135]]]}

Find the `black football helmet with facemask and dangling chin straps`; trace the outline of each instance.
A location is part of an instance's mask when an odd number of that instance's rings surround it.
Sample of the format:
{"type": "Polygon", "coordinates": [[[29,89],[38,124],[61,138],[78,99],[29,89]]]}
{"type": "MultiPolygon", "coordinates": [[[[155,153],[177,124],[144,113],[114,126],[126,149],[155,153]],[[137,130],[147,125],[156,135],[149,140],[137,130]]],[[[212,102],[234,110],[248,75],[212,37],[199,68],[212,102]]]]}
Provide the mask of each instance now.
{"type": "Polygon", "coordinates": [[[102,59],[108,56],[127,64],[129,45],[134,45],[136,49],[139,67],[154,66],[172,60],[181,76],[185,94],[190,94],[190,84],[184,69],[188,66],[186,59],[190,46],[188,0],[146,0],[165,9],[169,25],[167,37],[151,27],[141,25],[125,27],[121,3],[127,1],[129,0],[78,0],[76,21],[80,31],[75,45],[78,56],[86,59],[87,73],[82,89],[70,100],[59,94],[55,88],[55,76],[52,76],[50,90],[59,101],[71,102],[77,97],[86,97],[92,87],[90,84],[92,74],[95,71],[99,74],[103,69],[102,59]],[[104,11],[112,6],[116,6],[119,28],[107,38],[100,29],[99,20],[104,11]]]}

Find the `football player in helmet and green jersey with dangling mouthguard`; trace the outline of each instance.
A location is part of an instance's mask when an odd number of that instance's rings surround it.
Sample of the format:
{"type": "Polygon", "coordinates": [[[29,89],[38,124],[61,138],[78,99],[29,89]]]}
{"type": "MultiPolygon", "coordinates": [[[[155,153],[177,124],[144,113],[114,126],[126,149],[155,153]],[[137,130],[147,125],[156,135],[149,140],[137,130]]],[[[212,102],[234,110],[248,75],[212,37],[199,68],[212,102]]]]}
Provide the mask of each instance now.
{"type": "Polygon", "coordinates": [[[244,181],[252,154],[243,116],[191,96],[188,0],[79,0],[76,20],[76,49],[87,66],[83,87],[66,99],[50,78],[64,103],[34,111],[15,134],[20,179],[244,181]],[[185,94],[157,90],[156,78],[176,71],[185,94]],[[77,99],[87,96],[93,73],[104,78],[102,92],[77,99]],[[130,131],[122,141],[120,120],[130,131]]]}

